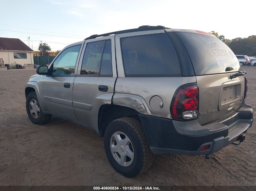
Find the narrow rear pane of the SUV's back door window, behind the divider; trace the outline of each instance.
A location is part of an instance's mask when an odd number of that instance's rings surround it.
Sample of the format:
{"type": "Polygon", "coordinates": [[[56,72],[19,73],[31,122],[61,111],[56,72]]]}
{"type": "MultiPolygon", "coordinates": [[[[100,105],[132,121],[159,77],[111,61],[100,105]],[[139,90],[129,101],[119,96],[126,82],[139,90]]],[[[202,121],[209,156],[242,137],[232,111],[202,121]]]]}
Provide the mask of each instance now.
{"type": "Polygon", "coordinates": [[[111,41],[107,40],[101,61],[100,75],[112,75],[111,41]]]}

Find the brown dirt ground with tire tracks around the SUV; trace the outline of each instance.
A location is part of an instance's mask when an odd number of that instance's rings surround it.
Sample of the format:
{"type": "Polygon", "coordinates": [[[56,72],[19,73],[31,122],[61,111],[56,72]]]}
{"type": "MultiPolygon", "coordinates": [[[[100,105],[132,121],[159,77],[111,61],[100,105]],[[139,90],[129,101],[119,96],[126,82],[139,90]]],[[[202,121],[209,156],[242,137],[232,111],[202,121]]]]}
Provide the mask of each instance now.
{"type": "MultiPolygon", "coordinates": [[[[246,102],[256,111],[256,67],[248,72],[246,102]]],[[[0,71],[0,185],[256,185],[256,124],[240,146],[212,155],[156,155],[147,173],[126,178],[115,172],[94,131],[53,117],[33,124],[24,87],[35,69],[0,71]]],[[[256,112],[254,112],[254,116],[256,112]]]]}

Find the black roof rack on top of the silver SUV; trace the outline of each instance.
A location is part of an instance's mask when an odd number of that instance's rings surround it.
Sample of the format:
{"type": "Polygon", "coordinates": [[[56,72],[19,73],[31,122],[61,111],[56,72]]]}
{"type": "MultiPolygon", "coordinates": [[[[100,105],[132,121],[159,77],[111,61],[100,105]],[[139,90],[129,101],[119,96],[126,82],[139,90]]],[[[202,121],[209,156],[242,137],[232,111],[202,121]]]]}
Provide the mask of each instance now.
{"type": "Polygon", "coordinates": [[[108,36],[111,34],[122,34],[122,33],[131,33],[131,32],[138,32],[138,31],[145,31],[145,30],[160,30],[160,29],[168,29],[168,28],[166,28],[164,26],[160,26],[160,25],[158,25],[158,26],[142,25],[135,29],[119,30],[119,31],[111,32],[111,33],[105,33],[105,34],[94,34],[94,35],[91,35],[90,37],[87,37],[85,40],[94,39],[97,37],[105,37],[105,36],[108,36]]]}

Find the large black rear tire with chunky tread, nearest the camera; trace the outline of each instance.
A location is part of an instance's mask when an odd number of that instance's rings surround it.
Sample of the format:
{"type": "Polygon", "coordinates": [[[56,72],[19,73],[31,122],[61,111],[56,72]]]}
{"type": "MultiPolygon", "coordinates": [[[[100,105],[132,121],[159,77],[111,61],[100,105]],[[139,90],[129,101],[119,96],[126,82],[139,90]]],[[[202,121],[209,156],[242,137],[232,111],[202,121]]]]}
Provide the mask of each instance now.
{"type": "Polygon", "coordinates": [[[104,145],[108,161],[112,167],[126,177],[134,177],[139,173],[146,172],[153,162],[153,153],[150,150],[143,126],[137,119],[123,117],[109,123],[104,135],[104,145]],[[130,144],[128,142],[129,145],[125,144],[125,153],[131,153],[130,151],[133,152],[133,159],[128,155],[128,158],[125,156],[125,163],[122,163],[123,165],[120,164],[121,160],[119,162],[117,161],[117,158],[120,157],[121,159],[121,154],[124,154],[121,153],[121,145],[118,147],[114,136],[118,133],[120,133],[119,136],[122,138],[121,140],[124,141],[123,143],[125,143],[126,136],[130,141],[130,144]],[[124,134],[125,137],[122,134],[124,134]],[[113,141],[113,138],[115,141],[113,141]],[[115,143],[120,153],[112,153],[111,144],[115,146],[115,143]],[[131,160],[129,161],[129,159],[131,160]]]}

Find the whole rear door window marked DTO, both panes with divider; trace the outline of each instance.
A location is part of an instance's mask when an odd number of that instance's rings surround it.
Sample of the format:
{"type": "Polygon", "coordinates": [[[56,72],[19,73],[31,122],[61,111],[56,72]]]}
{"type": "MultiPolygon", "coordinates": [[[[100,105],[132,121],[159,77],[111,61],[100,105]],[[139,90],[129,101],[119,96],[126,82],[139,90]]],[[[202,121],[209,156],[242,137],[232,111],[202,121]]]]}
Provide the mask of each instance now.
{"type": "Polygon", "coordinates": [[[112,75],[111,40],[87,43],[81,74],[112,75]]]}

